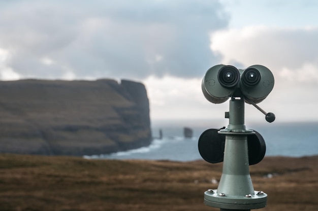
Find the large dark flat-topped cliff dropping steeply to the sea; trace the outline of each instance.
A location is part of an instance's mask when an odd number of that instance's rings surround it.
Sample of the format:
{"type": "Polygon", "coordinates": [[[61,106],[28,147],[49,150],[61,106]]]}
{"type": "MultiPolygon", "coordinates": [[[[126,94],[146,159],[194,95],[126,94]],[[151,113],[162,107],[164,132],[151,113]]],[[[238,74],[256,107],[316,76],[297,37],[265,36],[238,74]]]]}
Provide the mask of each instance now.
{"type": "Polygon", "coordinates": [[[107,154],[150,142],[142,83],[0,81],[0,152],[107,154]]]}

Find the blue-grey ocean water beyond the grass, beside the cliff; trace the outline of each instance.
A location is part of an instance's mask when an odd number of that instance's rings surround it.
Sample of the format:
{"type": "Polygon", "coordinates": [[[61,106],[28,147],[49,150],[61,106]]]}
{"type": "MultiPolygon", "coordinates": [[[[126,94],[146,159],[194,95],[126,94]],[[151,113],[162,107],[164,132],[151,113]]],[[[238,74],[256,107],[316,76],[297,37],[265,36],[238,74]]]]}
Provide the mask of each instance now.
{"type": "MultiPolygon", "coordinates": [[[[227,126],[222,121],[158,121],[152,123],[154,140],[147,147],[102,155],[87,155],[88,159],[149,159],[193,161],[202,157],[198,150],[198,139],[207,129],[227,126]],[[216,126],[218,124],[218,126],[216,126]],[[183,137],[183,128],[194,131],[193,138],[183,137]],[[163,139],[156,139],[159,130],[163,139]]],[[[245,123],[246,124],[246,123],[245,123]]],[[[302,157],[318,155],[318,122],[299,123],[253,123],[246,128],[258,131],[266,143],[265,156],[302,157]]]]}

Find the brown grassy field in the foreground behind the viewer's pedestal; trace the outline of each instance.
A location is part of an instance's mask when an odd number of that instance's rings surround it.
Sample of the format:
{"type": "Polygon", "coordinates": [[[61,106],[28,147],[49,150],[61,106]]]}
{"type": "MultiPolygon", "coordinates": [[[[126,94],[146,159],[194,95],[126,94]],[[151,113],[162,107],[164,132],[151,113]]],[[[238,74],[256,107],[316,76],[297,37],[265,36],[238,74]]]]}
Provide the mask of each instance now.
{"type": "MultiPolygon", "coordinates": [[[[0,210],[219,210],[203,204],[222,164],[0,154],[0,210]]],[[[260,210],[318,210],[318,156],[250,166],[260,210]],[[271,174],[273,177],[264,177],[271,174]]]]}

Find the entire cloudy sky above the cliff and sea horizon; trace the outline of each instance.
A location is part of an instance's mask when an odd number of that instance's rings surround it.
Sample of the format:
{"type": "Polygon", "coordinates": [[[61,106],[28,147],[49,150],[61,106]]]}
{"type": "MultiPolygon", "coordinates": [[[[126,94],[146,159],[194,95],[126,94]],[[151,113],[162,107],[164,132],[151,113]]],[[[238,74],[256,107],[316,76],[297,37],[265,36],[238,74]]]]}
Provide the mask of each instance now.
{"type": "Polygon", "coordinates": [[[278,122],[314,121],[317,11],[314,0],[0,1],[0,79],[132,79],[152,120],[218,119],[229,102],[204,98],[207,69],[261,64],[275,86],[259,105],[278,122]]]}

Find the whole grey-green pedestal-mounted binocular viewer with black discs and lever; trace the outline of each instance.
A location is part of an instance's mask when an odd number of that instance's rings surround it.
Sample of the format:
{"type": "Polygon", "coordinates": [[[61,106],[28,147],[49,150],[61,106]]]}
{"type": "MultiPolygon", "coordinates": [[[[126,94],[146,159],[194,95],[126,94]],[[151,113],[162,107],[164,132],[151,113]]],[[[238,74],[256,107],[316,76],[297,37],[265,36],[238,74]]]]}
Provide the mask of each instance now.
{"type": "Polygon", "coordinates": [[[208,69],[202,80],[205,98],[212,103],[230,100],[226,129],[209,129],[199,138],[199,152],[210,163],[223,161],[222,176],[216,190],[204,193],[204,203],[221,211],[250,210],[266,206],[267,194],[255,191],[249,175],[249,165],[259,163],[265,156],[266,145],[256,131],[244,124],[244,102],[252,104],[275,120],[273,113],[266,113],[257,103],[263,101],[274,87],[274,76],[265,66],[252,65],[237,69],[231,65],[216,65],[208,69]]]}

